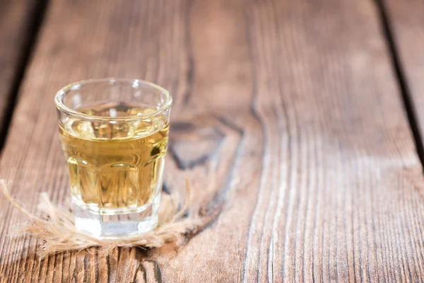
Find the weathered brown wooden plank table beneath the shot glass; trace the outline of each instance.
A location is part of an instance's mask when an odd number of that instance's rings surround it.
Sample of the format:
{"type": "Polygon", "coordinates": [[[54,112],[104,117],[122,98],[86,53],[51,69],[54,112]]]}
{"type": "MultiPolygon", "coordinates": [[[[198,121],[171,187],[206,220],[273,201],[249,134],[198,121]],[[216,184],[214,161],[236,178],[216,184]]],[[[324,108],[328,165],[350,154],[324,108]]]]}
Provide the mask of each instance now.
{"type": "Polygon", "coordinates": [[[35,256],[0,199],[0,282],[424,282],[424,2],[0,2],[0,175],[69,195],[54,93],[141,78],[174,98],[166,184],[218,219],[172,248],[35,256]],[[12,115],[13,114],[13,115],[12,115]],[[210,134],[219,132],[222,134],[210,134]],[[188,138],[189,137],[189,138],[188,138]]]}

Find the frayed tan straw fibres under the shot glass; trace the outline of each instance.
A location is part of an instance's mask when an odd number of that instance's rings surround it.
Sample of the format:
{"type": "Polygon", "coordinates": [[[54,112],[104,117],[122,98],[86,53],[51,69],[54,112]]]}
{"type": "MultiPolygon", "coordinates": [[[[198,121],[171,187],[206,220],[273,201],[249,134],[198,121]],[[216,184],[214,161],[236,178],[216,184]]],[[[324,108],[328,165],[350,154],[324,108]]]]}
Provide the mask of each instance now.
{"type": "Polygon", "coordinates": [[[160,248],[165,243],[175,242],[178,245],[184,243],[184,239],[194,236],[202,227],[211,222],[220,212],[219,207],[215,212],[207,216],[198,213],[184,218],[189,207],[189,182],[186,180],[187,191],[182,208],[177,210],[178,195],[162,195],[159,209],[159,225],[151,232],[137,236],[115,239],[99,239],[78,231],[73,222],[73,215],[66,207],[61,207],[50,202],[47,193],[40,195],[38,204],[39,212],[45,216],[32,214],[22,205],[17,204],[11,197],[6,181],[0,180],[1,192],[13,207],[28,216],[26,223],[13,227],[12,236],[33,236],[41,240],[42,244],[37,249],[40,257],[52,253],[61,253],[67,250],[83,250],[93,246],[102,247],[101,253],[110,253],[115,247],[140,247],[160,248]]]}

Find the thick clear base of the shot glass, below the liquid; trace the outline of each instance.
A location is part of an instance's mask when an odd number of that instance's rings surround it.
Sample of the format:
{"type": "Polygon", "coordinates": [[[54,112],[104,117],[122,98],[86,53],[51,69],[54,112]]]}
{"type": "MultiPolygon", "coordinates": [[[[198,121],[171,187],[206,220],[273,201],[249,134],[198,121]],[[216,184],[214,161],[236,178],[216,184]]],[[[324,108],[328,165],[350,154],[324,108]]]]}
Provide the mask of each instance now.
{"type": "Polygon", "coordinates": [[[72,200],[72,212],[78,231],[96,238],[119,238],[146,233],[158,226],[160,193],[152,202],[137,209],[112,209],[107,212],[93,212],[84,208],[81,202],[72,200]]]}

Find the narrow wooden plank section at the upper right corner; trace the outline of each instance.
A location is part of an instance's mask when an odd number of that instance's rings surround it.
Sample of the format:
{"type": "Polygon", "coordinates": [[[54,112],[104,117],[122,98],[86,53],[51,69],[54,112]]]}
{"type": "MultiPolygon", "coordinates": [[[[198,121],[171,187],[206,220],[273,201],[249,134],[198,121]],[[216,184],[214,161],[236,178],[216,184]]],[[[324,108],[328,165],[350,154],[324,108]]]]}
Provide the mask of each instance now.
{"type": "Polygon", "coordinates": [[[416,115],[421,142],[424,140],[424,3],[418,0],[382,1],[391,30],[406,92],[416,115]]]}

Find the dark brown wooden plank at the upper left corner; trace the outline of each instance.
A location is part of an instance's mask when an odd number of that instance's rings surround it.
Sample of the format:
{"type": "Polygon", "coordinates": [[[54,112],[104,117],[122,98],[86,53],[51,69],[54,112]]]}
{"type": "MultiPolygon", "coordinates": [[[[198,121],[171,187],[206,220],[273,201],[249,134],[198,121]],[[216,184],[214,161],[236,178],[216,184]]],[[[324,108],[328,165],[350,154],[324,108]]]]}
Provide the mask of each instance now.
{"type": "MultiPolygon", "coordinates": [[[[0,1],[0,137],[7,127],[8,112],[13,108],[16,80],[22,74],[28,45],[35,32],[40,1],[3,0],[0,1]],[[6,116],[6,117],[5,117],[6,116]]],[[[2,144],[3,141],[0,141],[2,144]]]]}

